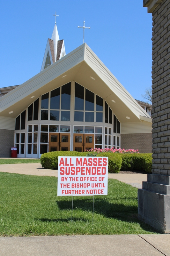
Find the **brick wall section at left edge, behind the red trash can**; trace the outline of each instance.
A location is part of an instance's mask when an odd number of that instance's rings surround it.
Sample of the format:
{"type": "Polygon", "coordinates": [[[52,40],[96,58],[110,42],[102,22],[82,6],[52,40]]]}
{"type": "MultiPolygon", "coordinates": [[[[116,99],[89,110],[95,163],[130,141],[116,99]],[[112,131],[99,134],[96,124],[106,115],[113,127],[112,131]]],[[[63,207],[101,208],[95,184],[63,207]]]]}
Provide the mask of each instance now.
{"type": "Polygon", "coordinates": [[[11,157],[14,146],[14,131],[0,129],[0,157],[11,157]]]}

